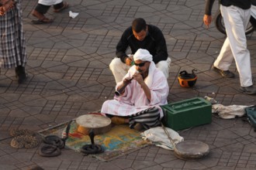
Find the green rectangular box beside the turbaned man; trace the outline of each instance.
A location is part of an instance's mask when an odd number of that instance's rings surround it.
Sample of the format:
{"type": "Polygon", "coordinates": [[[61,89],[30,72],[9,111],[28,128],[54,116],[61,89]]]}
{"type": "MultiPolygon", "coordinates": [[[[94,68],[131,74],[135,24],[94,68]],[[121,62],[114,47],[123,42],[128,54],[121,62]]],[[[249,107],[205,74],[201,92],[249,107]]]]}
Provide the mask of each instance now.
{"type": "Polygon", "coordinates": [[[162,123],[175,131],[212,122],[212,104],[202,97],[178,101],[161,106],[162,123]]]}

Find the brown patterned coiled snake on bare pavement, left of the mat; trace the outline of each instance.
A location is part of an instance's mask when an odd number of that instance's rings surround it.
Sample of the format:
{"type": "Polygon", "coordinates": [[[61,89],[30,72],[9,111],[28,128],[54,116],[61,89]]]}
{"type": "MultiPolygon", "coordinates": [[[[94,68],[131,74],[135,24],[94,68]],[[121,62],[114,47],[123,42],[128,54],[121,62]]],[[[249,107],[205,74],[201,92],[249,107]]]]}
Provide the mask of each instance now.
{"type": "Polygon", "coordinates": [[[11,129],[9,131],[13,137],[10,145],[12,148],[35,148],[39,142],[33,131],[28,129],[11,129]]]}

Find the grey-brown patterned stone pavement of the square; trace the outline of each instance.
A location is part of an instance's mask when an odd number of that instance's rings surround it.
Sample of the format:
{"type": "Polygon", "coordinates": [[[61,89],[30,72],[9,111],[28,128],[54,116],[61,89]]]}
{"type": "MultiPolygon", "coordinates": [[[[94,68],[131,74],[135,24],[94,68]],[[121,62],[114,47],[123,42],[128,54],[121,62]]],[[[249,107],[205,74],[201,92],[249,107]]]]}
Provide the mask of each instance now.
{"type": "MultiPolygon", "coordinates": [[[[29,169],[38,165],[54,169],[255,169],[256,132],[240,118],[223,120],[213,115],[211,124],[179,131],[185,140],[206,142],[210,153],[199,161],[182,161],[173,151],[154,145],[124,155],[111,162],[82,156],[69,149],[54,158],[43,158],[38,148],[16,149],[9,146],[9,130],[28,128],[41,131],[88,112],[99,110],[104,100],[112,99],[115,80],[109,63],[116,44],[133,19],[143,17],[161,28],[171,56],[168,83],[169,102],[191,97],[215,97],[220,104],[251,105],[256,97],[239,90],[235,79],[224,79],[210,67],[225,36],[214,24],[202,26],[202,0],[68,0],[71,7],[52,12],[49,25],[32,25],[29,12],[35,0],[22,0],[26,30],[29,79],[19,85],[14,70],[0,75],[0,169],[29,169]],[[75,19],[68,11],[79,12],[75,19]],[[177,76],[181,70],[196,69],[199,77],[194,88],[182,88],[177,76]]],[[[216,2],[217,4],[217,2],[216,2]]],[[[216,5],[214,7],[216,9],[216,5]]],[[[256,34],[247,37],[251,68],[256,76],[256,34]]]]}

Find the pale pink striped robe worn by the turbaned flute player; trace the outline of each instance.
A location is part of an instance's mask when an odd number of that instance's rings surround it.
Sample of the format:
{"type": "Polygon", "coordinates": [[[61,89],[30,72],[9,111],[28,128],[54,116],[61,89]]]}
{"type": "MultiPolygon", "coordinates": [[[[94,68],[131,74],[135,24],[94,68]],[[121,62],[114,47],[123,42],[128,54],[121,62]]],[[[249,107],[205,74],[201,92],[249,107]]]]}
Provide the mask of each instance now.
{"type": "MultiPolygon", "coordinates": [[[[132,66],[126,76],[132,77],[136,72],[135,66],[132,66]]],[[[167,97],[169,93],[168,82],[164,73],[161,70],[157,70],[153,62],[150,63],[150,69],[148,76],[144,80],[147,87],[150,88],[151,100],[147,100],[144,90],[140,87],[140,84],[136,80],[132,80],[127,85],[125,92],[119,97],[115,96],[113,100],[106,100],[102,105],[102,114],[112,114],[116,116],[129,116],[136,114],[141,110],[145,110],[149,107],[158,107],[159,105],[167,104],[167,97]]],[[[116,88],[122,82],[117,83],[116,88]]],[[[160,117],[163,117],[163,111],[161,110],[160,117]]]]}

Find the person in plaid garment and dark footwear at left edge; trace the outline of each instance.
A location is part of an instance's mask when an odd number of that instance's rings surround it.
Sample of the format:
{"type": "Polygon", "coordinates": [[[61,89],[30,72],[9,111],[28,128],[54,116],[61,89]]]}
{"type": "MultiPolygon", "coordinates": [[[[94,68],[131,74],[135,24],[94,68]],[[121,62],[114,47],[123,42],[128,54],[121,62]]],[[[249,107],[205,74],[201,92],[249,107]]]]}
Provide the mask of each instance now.
{"type": "Polygon", "coordinates": [[[26,42],[20,0],[0,2],[0,67],[16,67],[18,83],[23,83],[27,79],[26,42]]]}

